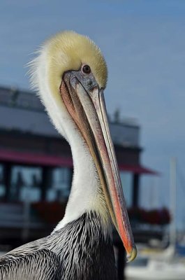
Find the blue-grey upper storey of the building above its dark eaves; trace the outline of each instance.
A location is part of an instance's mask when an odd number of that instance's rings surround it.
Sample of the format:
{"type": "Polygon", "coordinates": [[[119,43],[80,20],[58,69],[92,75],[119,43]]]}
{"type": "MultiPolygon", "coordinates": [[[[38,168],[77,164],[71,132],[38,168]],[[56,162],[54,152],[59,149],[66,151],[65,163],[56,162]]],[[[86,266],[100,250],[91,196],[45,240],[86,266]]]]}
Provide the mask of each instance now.
{"type": "MultiPolygon", "coordinates": [[[[0,130],[19,131],[45,137],[60,137],[34,92],[0,87],[0,130]]],[[[139,148],[140,127],[135,123],[111,123],[114,144],[139,148]]]]}

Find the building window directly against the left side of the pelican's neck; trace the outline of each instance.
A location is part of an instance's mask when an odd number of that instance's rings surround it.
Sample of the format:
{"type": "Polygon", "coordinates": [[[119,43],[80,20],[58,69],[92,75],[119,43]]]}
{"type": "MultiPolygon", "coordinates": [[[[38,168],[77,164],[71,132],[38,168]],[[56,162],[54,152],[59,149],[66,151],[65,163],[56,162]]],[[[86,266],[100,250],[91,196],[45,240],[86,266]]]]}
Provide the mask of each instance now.
{"type": "Polygon", "coordinates": [[[52,169],[51,186],[47,190],[47,201],[66,200],[70,193],[71,170],[67,167],[52,169]]]}

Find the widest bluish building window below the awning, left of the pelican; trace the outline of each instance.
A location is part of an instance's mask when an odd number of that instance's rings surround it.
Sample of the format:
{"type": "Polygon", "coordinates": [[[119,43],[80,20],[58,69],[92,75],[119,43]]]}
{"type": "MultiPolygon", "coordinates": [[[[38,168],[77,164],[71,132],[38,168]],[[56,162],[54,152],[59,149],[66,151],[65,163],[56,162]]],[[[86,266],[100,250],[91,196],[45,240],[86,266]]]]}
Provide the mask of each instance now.
{"type": "Polygon", "coordinates": [[[40,200],[40,167],[12,167],[10,197],[11,201],[38,202],[40,200]]]}

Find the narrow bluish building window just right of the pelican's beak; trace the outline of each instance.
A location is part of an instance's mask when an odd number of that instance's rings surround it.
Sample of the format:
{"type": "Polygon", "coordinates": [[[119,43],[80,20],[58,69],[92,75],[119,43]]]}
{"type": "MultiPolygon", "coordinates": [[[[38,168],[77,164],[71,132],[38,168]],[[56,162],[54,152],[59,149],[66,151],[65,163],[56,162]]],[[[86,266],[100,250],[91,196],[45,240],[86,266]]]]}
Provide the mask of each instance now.
{"type": "Polygon", "coordinates": [[[120,172],[121,183],[124,190],[124,197],[126,200],[126,207],[132,206],[133,200],[133,173],[131,172],[120,172]]]}

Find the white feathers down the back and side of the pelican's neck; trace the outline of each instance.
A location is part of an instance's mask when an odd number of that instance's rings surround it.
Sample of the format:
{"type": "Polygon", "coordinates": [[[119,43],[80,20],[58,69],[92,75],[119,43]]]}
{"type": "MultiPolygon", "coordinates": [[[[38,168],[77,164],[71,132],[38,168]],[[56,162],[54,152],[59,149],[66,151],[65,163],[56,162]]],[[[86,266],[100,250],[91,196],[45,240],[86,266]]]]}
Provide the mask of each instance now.
{"type": "Polygon", "coordinates": [[[73,183],[66,214],[54,231],[63,228],[66,223],[74,221],[89,211],[96,211],[97,214],[100,214],[103,226],[106,224],[106,228],[110,230],[109,214],[105,199],[100,191],[100,181],[94,161],[75,123],[66,111],[66,107],[62,102],[59,104],[54,99],[47,83],[46,66],[46,55],[43,52],[34,61],[32,80],[52,123],[71,145],[74,166],[73,183]]]}

